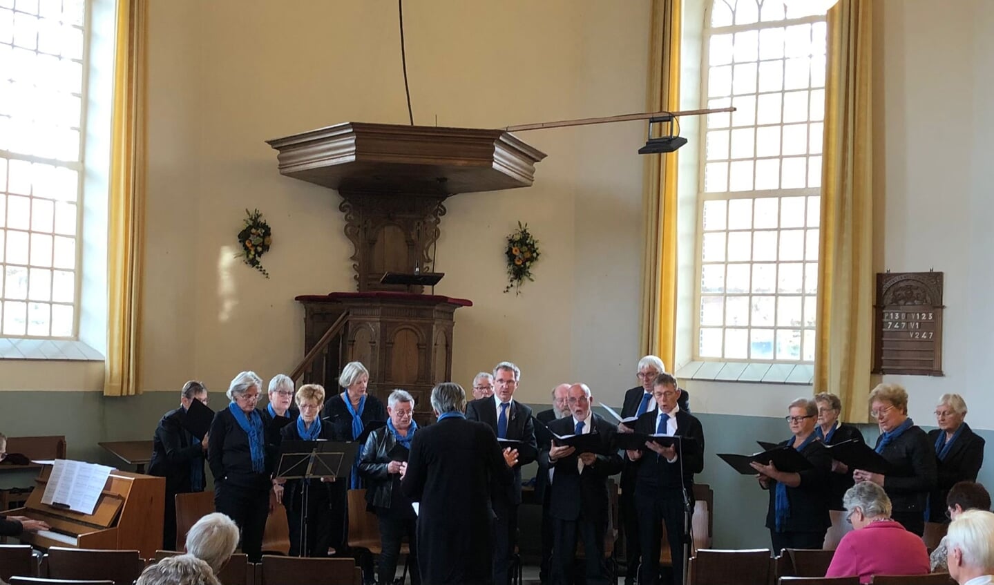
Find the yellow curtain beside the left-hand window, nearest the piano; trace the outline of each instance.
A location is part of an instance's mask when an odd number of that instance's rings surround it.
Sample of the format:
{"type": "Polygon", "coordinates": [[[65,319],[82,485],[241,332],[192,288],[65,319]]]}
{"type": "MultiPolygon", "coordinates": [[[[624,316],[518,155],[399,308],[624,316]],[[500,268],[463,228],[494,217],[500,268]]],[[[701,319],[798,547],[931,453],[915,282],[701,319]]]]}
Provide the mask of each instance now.
{"type": "Polygon", "coordinates": [[[147,0],[118,0],[107,227],[107,359],[103,394],[138,394],[144,232],[147,0]]]}

